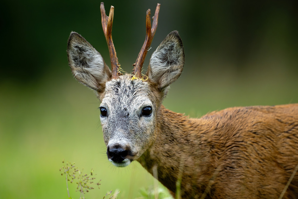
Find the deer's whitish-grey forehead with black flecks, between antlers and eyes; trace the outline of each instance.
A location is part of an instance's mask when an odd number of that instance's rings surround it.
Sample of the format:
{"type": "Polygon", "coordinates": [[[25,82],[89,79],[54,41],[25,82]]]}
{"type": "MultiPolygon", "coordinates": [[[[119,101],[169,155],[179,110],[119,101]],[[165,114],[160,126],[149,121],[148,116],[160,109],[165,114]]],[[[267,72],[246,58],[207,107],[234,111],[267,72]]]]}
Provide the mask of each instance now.
{"type": "Polygon", "coordinates": [[[107,105],[110,109],[152,106],[149,84],[140,79],[131,80],[131,74],[112,79],[105,84],[102,105],[107,105]]]}

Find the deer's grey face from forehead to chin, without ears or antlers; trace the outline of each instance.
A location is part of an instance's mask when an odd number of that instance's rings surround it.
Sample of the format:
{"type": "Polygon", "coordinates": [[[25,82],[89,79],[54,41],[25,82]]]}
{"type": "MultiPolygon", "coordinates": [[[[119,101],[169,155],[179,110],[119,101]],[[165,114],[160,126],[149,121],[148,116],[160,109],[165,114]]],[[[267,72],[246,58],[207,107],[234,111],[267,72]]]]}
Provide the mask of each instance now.
{"type": "Polygon", "coordinates": [[[149,81],[121,75],[105,85],[100,121],[109,161],[127,166],[155,140],[157,100],[149,81]]]}

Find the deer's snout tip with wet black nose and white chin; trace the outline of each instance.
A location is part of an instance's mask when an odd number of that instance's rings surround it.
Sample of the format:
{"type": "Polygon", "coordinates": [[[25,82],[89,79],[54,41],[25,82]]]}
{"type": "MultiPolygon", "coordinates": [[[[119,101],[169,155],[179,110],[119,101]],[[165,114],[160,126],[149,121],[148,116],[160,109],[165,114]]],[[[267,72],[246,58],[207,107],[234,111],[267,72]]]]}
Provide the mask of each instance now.
{"type": "Polygon", "coordinates": [[[127,166],[131,163],[133,157],[130,147],[121,146],[108,146],[107,155],[109,161],[118,167],[127,166]]]}

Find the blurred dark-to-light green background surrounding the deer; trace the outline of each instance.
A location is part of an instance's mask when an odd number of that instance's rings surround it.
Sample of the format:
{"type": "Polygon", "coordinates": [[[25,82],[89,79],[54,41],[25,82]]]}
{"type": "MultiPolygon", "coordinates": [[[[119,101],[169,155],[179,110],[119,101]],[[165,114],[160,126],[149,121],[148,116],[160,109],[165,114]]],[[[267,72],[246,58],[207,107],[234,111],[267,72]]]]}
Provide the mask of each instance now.
{"type": "MultiPolygon", "coordinates": [[[[105,1],[115,7],[113,41],[123,70],[132,71],[145,38],[145,13],[161,3],[150,54],[173,30],[185,65],[165,107],[190,117],[233,106],[298,103],[298,1],[105,1]]],[[[153,15],[153,14],[152,14],[153,15]]],[[[109,63],[100,1],[1,2],[0,198],[67,198],[62,160],[101,179],[86,198],[119,189],[141,197],[153,178],[134,162],[106,158],[100,102],[67,62],[71,31],[109,63]]],[[[69,186],[72,198],[79,198],[69,186]]]]}

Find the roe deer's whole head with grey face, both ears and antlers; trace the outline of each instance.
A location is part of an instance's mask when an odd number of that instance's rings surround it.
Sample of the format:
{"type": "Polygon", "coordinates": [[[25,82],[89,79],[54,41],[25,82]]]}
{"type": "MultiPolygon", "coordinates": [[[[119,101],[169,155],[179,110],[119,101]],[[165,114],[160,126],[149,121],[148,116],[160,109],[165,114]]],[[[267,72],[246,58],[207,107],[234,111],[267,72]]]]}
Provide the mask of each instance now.
{"type": "Polygon", "coordinates": [[[146,39],[134,65],[133,74],[120,74],[111,37],[114,7],[105,15],[101,3],[102,26],[109,47],[111,69],[81,35],[69,36],[67,54],[75,78],[93,89],[101,101],[100,121],[109,161],[124,167],[138,159],[154,143],[158,132],[159,109],[167,90],[180,76],[184,65],[184,49],[177,31],[159,44],[150,58],[148,70],[142,65],[149,50],[159,14],[157,4],[151,29],[150,9],[146,14],[146,39]]]}

